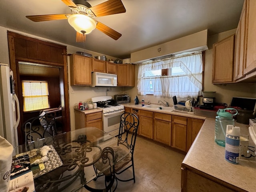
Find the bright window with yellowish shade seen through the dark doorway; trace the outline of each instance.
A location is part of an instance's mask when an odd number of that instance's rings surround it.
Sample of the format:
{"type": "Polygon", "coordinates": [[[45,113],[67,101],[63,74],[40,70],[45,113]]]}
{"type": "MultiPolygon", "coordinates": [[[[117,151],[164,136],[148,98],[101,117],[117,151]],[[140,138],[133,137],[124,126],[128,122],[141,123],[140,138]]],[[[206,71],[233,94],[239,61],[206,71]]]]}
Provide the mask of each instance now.
{"type": "Polygon", "coordinates": [[[49,108],[49,91],[46,81],[22,81],[22,96],[25,112],[49,108]]]}

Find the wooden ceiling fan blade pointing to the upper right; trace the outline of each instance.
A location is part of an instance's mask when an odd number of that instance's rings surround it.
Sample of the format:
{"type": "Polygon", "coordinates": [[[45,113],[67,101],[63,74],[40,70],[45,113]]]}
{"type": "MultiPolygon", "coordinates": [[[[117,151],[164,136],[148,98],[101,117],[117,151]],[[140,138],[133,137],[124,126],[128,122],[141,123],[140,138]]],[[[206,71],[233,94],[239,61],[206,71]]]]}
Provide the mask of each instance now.
{"type": "Polygon", "coordinates": [[[126,9],[121,0],[108,0],[90,8],[96,17],[125,13],[126,9]]]}

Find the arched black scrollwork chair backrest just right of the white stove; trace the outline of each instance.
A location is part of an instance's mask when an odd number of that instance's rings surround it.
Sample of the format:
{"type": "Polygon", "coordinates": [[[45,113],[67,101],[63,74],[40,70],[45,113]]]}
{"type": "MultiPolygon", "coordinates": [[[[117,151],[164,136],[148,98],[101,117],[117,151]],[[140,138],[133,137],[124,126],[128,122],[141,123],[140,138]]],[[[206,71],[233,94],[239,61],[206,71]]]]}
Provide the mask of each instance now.
{"type": "Polygon", "coordinates": [[[139,124],[139,119],[135,114],[124,112],[121,115],[118,138],[130,144],[132,155],[134,152],[139,124]]]}

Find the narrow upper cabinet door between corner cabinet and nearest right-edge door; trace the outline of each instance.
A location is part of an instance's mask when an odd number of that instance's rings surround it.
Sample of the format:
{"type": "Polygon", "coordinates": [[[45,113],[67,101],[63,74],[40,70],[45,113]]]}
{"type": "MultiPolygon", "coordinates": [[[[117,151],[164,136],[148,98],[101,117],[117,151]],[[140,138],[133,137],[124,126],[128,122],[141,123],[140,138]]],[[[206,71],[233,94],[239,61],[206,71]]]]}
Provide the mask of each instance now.
{"type": "Polygon", "coordinates": [[[240,21],[236,29],[235,40],[235,61],[234,61],[234,80],[244,77],[245,62],[245,34],[246,34],[246,1],[242,8],[240,21]]]}

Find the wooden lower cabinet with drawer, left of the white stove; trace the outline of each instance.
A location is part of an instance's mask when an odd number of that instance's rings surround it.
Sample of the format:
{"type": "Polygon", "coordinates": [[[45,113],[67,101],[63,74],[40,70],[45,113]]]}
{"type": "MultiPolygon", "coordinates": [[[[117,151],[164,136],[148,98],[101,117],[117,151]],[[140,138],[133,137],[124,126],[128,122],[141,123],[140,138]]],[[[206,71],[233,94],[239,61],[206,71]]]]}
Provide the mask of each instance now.
{"type": "Polygon", "coordinates": [[[84,127],[96,127],[102,130],[102,112],[92,112],[84,114],[84,112],[75,110],[76,129],[84,127]]]}

